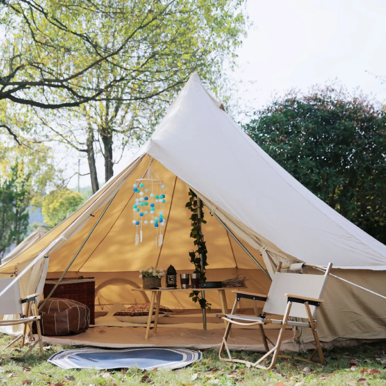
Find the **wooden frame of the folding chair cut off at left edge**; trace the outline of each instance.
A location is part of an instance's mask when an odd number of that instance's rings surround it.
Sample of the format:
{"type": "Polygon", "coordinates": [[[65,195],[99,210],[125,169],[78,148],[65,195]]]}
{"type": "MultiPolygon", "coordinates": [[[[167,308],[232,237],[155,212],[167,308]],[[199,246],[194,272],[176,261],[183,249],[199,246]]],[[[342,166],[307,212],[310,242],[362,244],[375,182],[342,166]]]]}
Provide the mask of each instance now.
{"type": "Polygon", "coordinates": [[[29,354],[30,351],[39,343],[40,346],[40,354],[43,354],[43,341],[42,341],[42,334],[41,334],[41,327],[40,327],[40,320],[41,316],[39,316],[39,312],[37,310],[37,298],[39,297],[38,293],[35,293],[33,295],[28,295],[25,298],[20,299],[20,303],[28,303],[27,305],[27,311],[26,315],[20,313],[20,319],[12,319],[12,320],[0,320],[0,326],[12,326],[15,324],[24,324],[23,327],[23,334],[16,337],[12,342],[10,342],[5,348],[10,347],[14,343],[16,343],[18,340],[22,339],[22,346],[25,345],[25,338],[29,334],[30,331],[32,331],[32,323],[36,322],[36,329],[37,329],[37,336],[38,339],[32,346],[28,349],[26,354],[29,354]],[[28,330],[27,330],[27,327],[28,330]]]}

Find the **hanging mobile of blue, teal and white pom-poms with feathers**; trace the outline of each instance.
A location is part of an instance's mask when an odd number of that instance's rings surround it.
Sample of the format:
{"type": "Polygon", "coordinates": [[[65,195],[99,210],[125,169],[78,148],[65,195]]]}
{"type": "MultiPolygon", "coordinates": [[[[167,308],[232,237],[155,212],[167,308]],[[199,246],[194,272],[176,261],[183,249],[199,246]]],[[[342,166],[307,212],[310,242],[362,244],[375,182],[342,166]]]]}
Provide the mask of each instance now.
{"type": "Polygon", "coordinates": [[[135,245],[143,240],[142,225],[150,223],[156,230],[156,248],[163,243],[162,228],[166,224],[164,218],[165,185],[154,170],[149,167],[135,180],[134,191],[134,220],[136,227],[135,245]],[[150,220],[149,220],[150,219],[150,220]],[[139,231],[139,233],[138,233],[139,231]]]}

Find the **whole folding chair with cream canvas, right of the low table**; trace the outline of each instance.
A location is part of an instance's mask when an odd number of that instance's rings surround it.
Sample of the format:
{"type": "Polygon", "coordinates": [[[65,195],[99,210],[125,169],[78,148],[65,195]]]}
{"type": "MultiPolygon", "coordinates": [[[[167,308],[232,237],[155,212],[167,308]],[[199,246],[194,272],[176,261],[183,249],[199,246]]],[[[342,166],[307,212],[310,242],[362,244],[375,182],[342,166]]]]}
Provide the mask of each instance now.
{"type": "Polygon", "coordinates": [[[317,334],[317,321],[315,320],[315,315],[317,313],[318,307],[324,300],[321,299],[323,295],[324,288],[327,283],[328,275],[330,274],[332,264],[328,264],[327,268],[314,266],[311,264],[291,264],[288,267],[282,267],[282,263],[279,263],[276,273],[274,274],[271,288],[269,288],[268,295],[260,295],[255,293],[249,293],[244,291],[232,291],[236,293],[236,300],[230,314],[220,314],[217,315],[223,320],[227,321],[227,327],[225,328],[225,334],[222,339],[222,344],[220,346],[219,357],[222,361],[229,362],[240,362],[247,365],[247,367],[258,367],[259,369],[269,370],[271,369],[278,357],[283,358],[292,358],[293,356],[280,354],[280,345],[283,340],[283,333],[286,326],[296,326],[296,327],[309,327],[312,329],[312,334],[315,339],[316,348],[311,354],[309,359],[303,359],[299,357],[293,357],[301,361],[305,361],[312,364],[319,364],[312,361],[312,358],[315,354],[319,354],[320,364],[325,364],[325,359],[322,352],[322,347],[320,345],[320,340],[317,334]],[[315,267],[325,271],[324,275],[308,275],[300,273],[282,273],[280,270],[283,268],[289,268],[290,271],[300,270],[306,267],[315,267]],[[256,317],[246,316],[246,315],[235,315],[237,308],[237,303],[240,299],[251,299],[251,300],[260,300],[264,301],[263,313],[258,316],[256,303],[254,305],[254,310],[256,317]],[[267,318],[266,314],[273,315],[283,315],[283,319],[271,319],[267,318]],[[291,318],[302,318],[308,319],[307,322],[299,322],[291,320],[291,318]],[[270,339],[268,339],[264,333],[263,325],[267,323],[272,323],[280,325],[280,331],[278,335],[278,340],[274,344],[270,339]],[[227,345],[227,339],[229,337],[230,328],[232,324],[239,326],[255,326],[258,325],[260,328],[261,337],[263,340],[264,348],[266,354],[264,354],[257,362],[251,363],[249,361],[242,361],[240,359],[232,359],[229,348],[227,345]],[[269,349],[267,340],[273,345],[273,348],[269,349]],[[227,351],[228,358],[223,358],[224,350],[227,351]],[[264,361],[267,357],[272,355],[271,362],[268,366],[261,366],[259,363],[264,361]]]}

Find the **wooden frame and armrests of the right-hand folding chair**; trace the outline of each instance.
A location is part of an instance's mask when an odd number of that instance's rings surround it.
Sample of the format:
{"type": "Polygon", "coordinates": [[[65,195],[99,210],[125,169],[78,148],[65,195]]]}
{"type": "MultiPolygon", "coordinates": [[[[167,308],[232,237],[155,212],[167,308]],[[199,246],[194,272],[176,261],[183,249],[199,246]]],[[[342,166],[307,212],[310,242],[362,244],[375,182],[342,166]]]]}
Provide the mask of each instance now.
{"type": "MultiPolygon", "coordinates": [[[[312,265],[305,264],[305,266],[312,266],[312,265]]],[[[279,262],[277,272],[280,272],[281,268],[282,268],[282,263],[279,262]]],[[[285,267],[285,268],[288,268],[288,267],[285,267]]],[[[328,275],[330,273],[331,268],[332,268],[332,264],[329,264],[327,268],[318,266],[318,269],[323,269],[325,271],[325,275],[328,275]]],[[[318,307],[318,306],[320,306],[321,303],[324,302],[324,300],[316,299],[316,298],[308,298],[305,296],[296,296],[296,295],[292,295],[289,293],[285,293],[283,295],[287,297],[287,306],[286,306],[286,310],[285,310],[284,315],[283,315],[283,319],[266,318],[265,313],[259,315],[256,303],[254,303],[254,310],[255,310],[256,317],[242,317],[242,316],[235,314],[235,311],[237,309],[237,304],[241,298],[251,299],[254,301],[257,301],[257,300],[266,301],[267,295],[261,295],[261,294],[244,292],[244,291],[232,291],[232,292],[236,293],[236,299],[235,299],[231,313],[228,315],[225,315],[225,314],[218,314],[217,315],[217,317],[220,317],[223,320],[225,320],[226,322],[228,322],[227,327],[225,328],[224,337],[223,337],[222,342],[221,342],[220,351],[218,353],[220,361],[244,363],[247,367],[253,366],[253,367],[257,367],[259,369],[263,369],[263,370],[270,370],[276,364],[278,357],[298,359],[300,361],[307,362],[307,363],[314,364],[314,365],[325,364],[325,358],[323,355],[322,346],[320,344],[320,340],[319,340],[319,337],[317,334],[317,321],[314,320],[314,318],[312,316],[312,312],[310,310],[310,305],[318,307]],[[306,313],[308,315],[308,322],[293,322],[293,321],[289,320],[289,313],[291,311],[291,306],[293,303],[303,303],[304,304],[305,309],[306,309],[306,313]],[[235,315],[235,318],[232,318],[232,315],[235,315]],[[245,321],[247,321],[247,323],[239,322],[238,320],[245,320],[245,321]],[[278,340],[277,340],[276,344],[274,344],[266,336],[266,334],[264,332],[263,325],[265,325],[267,323],[281,326],[280,331],[279,331],[279,335],[278,335],[278,340]],[[252,363],[249,361],[243,361],[241,359],[234,359],[230,355],[230,351],[229,351],[229,348],[227,345],[227,339],[229,337],[232,324],[236,324],[236,325],[240,325],[240,326],[244,326],[244,327],[250,327],[250,326],[256,326],[256,325],[259,326],[260,334],[261,334],[261,337],[263,340],[264,349],[265,349],[266,353],[261,358],[259,358],[255,363],[252,363]],[[283,340],[283,334],[284,334],[285,328],[287,326],[311,328],[313,337],[315,339],[316,348],[312,352],[312,354],[310,355],[310,357],[308,359],[290,356],[290,355],[284,355],[280,351],[280,345],[281,345],[281,342],[283,340]],[[268,342],[271,343],[271,345],[273,346],[272,349],[269,349],[268,342]],[[223,357],[224,350],[227,351],[228,358],[223,357]],[[312,360],[316,354],[319,355],[320,363],[312,360]],[[272,356],[271,362],[269,363],[268,366],[265,366],[265,360],[269,356],[272,356]],[[262,361],[264,361],[263,365],[260,364],[262,361]]]]}

